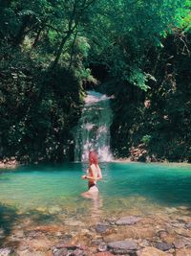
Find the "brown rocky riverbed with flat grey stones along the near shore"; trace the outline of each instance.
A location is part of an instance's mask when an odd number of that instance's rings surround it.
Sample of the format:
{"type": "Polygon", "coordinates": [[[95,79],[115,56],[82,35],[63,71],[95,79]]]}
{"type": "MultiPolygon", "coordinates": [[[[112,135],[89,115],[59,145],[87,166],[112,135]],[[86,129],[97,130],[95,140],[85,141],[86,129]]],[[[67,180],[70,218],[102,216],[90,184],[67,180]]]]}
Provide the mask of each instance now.
{"type": "MultiPolygon", "coordinates": [[[[56,211],[54,211],[56,212],[56,211]]],[[[190,256],[191,209],[155,214],[41,222],[33,214],[0,228],[0,255],[18,256],[190,256]]],[[[55,217],[56,218],[56,217],[55,217]]],[[[9,216],[4,221],[9,223],[9,216]]]]}

